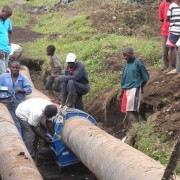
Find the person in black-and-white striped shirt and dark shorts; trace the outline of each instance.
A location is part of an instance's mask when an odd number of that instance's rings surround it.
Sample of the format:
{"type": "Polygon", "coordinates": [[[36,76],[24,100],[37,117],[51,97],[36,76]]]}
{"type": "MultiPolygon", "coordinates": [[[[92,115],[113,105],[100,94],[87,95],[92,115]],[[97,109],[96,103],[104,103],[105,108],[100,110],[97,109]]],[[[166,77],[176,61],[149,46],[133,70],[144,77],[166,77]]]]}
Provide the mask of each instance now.
{"type": "Polygon", "coordinates": [[[169,27],[169,37],[167,41],[167,46],[169,46],[168,51],[168,61],[169,67],[166,72],[173,70],[173,50],[176,47],[176,43],[180,37],[180,0],[174,0],[174,2],[169,6],[167,12],[167,21],[170,22],[169,27]]]}

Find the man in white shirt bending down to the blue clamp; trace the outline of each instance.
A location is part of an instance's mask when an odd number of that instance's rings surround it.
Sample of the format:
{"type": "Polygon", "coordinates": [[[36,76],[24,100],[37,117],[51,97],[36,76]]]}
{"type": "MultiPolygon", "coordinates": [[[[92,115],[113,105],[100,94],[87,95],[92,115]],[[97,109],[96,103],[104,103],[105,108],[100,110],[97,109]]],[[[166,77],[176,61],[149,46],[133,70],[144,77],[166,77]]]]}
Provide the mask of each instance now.
{"type": "Polygon", "coordinates": [[[23,130],[25,145],[33,159],[37,154],[38,136],[47,143],[52,143],[40,131],[40,124],[46,127],[54,136],[52,117],[56,114],[57,107],[50,101],[40,98],[26,100],[17,107],[16,116],[19,118],[23,130]]]}

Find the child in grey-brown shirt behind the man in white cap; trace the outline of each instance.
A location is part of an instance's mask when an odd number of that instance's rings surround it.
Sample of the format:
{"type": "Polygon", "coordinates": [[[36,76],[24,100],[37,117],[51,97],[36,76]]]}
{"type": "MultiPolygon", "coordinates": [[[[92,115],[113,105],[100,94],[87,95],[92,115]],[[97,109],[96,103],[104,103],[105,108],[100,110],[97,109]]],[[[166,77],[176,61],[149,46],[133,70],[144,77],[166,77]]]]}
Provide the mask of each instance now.
{"type": "Polygon", "coordinates": [[[51,65],[51,74],[46,82],[46,90],[49,90],[49,94],[55,94],[55,92],[60,91],[59,84],[55,83],[54,79],[61,74],[62,67],[59,58],[55,55],[55,51],[56,47],[54,45],[49,45],[46,48],[46,53],[50,56],[51,65]]]}

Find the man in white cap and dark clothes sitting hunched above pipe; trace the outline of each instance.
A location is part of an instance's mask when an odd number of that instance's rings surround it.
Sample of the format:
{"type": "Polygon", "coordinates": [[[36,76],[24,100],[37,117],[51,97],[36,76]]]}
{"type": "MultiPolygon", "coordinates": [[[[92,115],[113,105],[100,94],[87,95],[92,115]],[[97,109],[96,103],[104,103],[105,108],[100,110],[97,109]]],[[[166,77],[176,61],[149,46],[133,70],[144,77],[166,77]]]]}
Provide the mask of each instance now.
{"type": "Polygon", "coordinates": [[[67,55],[66,63],[65,74],[58,77],[61,83],[60,104],[83,110],[82,95],[90,90],[87,72],[74,53],[67,55]]]}

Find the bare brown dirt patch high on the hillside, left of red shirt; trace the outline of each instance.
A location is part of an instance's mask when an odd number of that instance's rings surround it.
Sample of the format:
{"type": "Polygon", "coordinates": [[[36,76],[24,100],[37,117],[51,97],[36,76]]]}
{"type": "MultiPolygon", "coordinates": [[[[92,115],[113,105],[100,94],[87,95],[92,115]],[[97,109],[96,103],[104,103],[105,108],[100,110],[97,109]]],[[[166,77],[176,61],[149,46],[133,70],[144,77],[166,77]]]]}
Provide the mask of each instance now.
{"type": "Polygon", "coordinates": [[[157,38],[161,26],[157,19],[159,4],[104,4],[92,13],[92,27],[104,33],[157,38]]]}

